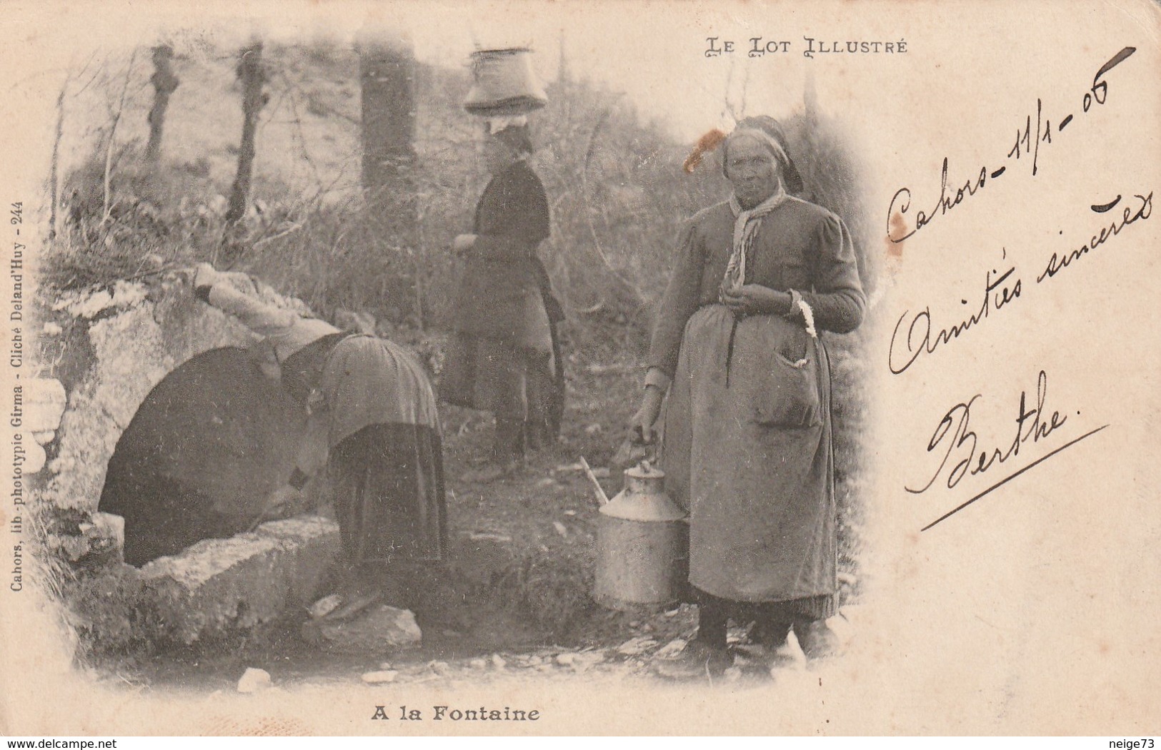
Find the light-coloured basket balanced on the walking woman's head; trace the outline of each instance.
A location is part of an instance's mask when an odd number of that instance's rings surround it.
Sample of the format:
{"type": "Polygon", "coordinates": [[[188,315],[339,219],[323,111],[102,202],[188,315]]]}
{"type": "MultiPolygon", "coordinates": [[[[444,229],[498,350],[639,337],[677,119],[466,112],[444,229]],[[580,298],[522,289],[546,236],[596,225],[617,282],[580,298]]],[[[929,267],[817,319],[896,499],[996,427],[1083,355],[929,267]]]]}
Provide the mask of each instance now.
{"type": "Polygon", "coordinates": [[[513,117],[548,103],[532,70],[532,50],[481,50],[471,54],[474,85],[463,108],[481,117],[513,117]]]}

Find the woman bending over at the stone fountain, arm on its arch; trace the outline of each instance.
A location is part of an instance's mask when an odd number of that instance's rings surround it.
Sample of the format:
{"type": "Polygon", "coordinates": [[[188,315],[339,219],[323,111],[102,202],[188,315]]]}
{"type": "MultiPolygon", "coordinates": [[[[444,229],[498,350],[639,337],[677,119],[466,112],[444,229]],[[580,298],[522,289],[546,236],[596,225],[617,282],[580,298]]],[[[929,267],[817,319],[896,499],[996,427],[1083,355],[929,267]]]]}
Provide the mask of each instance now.
{"type": "Polygon", "coordinates": [[[440,428],[427,377],[394,343],[266,305],[235,281],[245,287],[248,277],[202,263],[194,291],[264,337],[264,369],[307,415],[294,473],[268,507],[297,495],[325,466],[344,568],[344,604],[332,617],[402,595],[416,567],[439,565],[447,546],[440,428]]]}

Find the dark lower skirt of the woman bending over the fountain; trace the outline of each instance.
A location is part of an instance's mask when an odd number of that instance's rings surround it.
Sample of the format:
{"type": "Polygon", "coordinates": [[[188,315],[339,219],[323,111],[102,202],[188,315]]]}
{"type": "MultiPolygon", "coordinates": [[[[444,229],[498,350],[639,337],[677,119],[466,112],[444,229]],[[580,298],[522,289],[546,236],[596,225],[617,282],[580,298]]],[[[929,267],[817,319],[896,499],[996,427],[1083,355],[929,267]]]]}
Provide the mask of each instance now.
{"type": "Polygon", "coordinates": [[[435,429],[365,427],[331,450],[330,474],[348,565],[444,559],[447,509],[435,429]]]}

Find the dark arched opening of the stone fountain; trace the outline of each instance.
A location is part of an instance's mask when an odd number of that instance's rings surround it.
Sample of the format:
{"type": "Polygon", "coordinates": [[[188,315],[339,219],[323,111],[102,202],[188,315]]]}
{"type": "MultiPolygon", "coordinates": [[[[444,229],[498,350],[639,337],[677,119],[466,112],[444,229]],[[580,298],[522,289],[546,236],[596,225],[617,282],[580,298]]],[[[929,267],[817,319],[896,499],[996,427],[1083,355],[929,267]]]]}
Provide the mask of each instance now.
{"type": "Polygon", "coordinates": [[[101,490],[99,510],[124,518],[125,562],[252,530],[294,469],[302,425],[245,349],[211,349],[165,376],[121,434],[101,490]]]}

